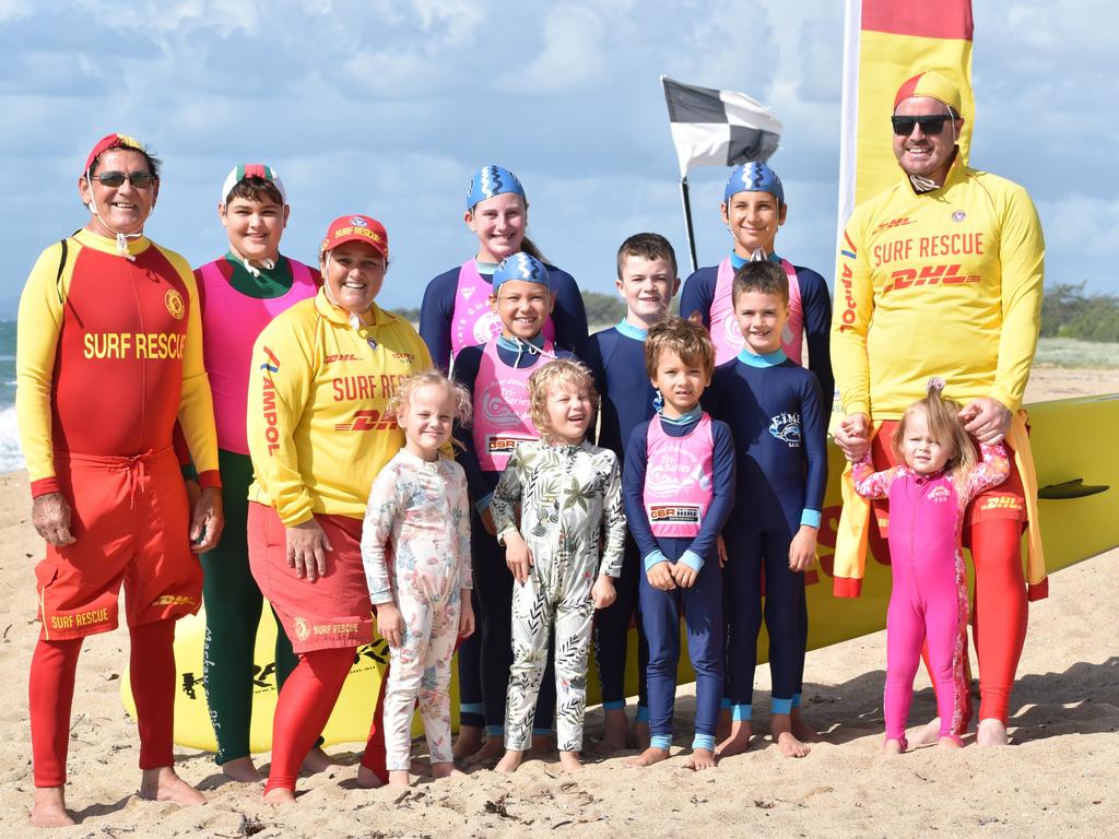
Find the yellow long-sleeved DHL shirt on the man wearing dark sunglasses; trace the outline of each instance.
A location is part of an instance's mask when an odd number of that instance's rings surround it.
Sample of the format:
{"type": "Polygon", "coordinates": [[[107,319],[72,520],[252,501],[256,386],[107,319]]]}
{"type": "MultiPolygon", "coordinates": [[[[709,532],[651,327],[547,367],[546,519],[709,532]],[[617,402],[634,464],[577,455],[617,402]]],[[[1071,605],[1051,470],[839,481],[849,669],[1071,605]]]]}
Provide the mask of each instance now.
{"type": "Polygon", "coordinates": [[[1045,243],[1026,190],[953,163],[852,214],[836,266],[831,367],[846,415],[896,420],[931,376],[1017,411],[1041,326],[1045,243]]]}

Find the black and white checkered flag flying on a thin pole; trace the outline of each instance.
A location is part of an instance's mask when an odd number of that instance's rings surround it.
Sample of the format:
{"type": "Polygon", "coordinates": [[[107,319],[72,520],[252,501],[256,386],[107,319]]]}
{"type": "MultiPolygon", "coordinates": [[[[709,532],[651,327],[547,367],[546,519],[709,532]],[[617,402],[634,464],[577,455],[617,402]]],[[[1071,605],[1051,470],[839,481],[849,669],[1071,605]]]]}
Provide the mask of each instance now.
{"type": "Polygon", "coordinates": [[[746,94],[660,81],[681,178],[695,166],[764,161],[777,151],[781,123],[746,94]]]}

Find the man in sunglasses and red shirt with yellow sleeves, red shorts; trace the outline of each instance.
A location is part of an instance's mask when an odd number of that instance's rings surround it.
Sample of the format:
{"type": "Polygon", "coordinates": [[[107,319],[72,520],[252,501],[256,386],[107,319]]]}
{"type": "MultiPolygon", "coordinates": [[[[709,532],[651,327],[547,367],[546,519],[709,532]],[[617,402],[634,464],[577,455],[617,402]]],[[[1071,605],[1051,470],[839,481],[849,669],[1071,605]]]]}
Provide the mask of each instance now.
{"type": "Polygon", "coordinates": [[[123,585],[140,729],[141,798],[201,803],[172,769],[175,621],[198,611],[198,553],[222,532],[210,389],[194,275],[144,237],[159,160],[110,134],[78,192],[84,229],[51,245],[19,304],[16,407],[31,519],[47,541],[36,566],[43,628],[31,658],[31,821],[73,824],[66,750],[82,642],[117,625],[123,585]],[[203,488],[191,511],[171,446],[176,418],[203,488]]]}

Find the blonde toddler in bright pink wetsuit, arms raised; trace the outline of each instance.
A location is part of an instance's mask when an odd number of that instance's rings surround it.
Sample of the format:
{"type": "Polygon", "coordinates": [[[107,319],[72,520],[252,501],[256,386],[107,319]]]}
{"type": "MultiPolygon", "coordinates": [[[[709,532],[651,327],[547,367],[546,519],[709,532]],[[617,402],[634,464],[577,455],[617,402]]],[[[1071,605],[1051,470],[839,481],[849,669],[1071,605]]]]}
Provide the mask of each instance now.
{"type": "Polygon", "coordinates": [[[960,406],[942,399],[942,379],[906,408],[891,444],[897,465],[874,472],[867,452],[852,468],[864,498],[890,500],[890,563],[893,591],[886,614],[886,716],[884,751],[904,752],[913,677],[928,642],[940,715],[940,744],[959,746],[958,725],[968,685],[965,641],[968,586],[960,544],[963,513],[972,498],[1002,483],[1009,471],[1002,443],[975,444],[963,431],[960,406]]]}

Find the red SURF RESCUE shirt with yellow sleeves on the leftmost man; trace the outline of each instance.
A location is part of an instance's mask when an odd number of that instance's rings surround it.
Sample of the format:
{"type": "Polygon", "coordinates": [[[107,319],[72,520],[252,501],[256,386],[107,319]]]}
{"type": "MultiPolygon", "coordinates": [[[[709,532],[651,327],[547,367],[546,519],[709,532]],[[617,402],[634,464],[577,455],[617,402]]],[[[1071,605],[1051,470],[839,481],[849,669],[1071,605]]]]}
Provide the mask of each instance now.
{"type": "Polygon", "coordinates": [[[133,456],[171,445],[219,487],[201,319],[186,260],[140,237],[78,230],[39,256],[19,301],[16,413],[31,494],[58,491],[55,452],[133,456]]]}

